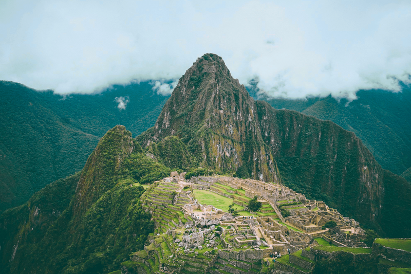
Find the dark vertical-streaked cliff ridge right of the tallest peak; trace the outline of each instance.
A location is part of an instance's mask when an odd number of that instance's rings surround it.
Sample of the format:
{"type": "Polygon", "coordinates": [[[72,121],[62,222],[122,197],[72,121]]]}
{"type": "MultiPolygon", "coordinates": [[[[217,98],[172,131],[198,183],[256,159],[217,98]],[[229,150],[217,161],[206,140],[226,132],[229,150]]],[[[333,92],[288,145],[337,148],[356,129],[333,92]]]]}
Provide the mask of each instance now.
{"type": "Polygon", "coordinates": [[[256,105],[284,184],[380,228],[383,170],[359,138],[331,121],[256,105]]]}

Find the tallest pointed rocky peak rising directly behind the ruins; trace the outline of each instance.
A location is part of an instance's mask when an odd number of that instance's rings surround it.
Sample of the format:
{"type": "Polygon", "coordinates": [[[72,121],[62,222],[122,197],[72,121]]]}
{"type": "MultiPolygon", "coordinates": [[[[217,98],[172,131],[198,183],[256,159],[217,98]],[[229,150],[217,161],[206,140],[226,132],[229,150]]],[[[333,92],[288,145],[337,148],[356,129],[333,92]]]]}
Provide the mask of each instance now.
{"type": "Polygon", "coordinates": [[[204,54],[180,78],[154,128],[137,139],[147,147],[176,135],[202,166],[226,173],[244,166],[253,177],[273,181],[276,166],[255,108],[221,57],[204,54]]]}

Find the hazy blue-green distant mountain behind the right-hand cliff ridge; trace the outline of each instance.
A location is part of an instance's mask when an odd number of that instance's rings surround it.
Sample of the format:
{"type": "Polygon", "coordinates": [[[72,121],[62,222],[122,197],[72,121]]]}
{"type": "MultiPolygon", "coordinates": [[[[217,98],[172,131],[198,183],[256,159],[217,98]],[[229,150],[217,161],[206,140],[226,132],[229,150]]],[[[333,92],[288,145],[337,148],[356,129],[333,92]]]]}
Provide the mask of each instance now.
{"type": "Polygon", "coordinates": [[[331,120],[359,137],[384,169],[400,175],[411,167],[411,87],[402,92],[360,90],[358,99],[347,101],[331,96],[305,100],[270,98],[249,88],[255,98],[277,109],[292,109],[321,120],[331,120]]]}

